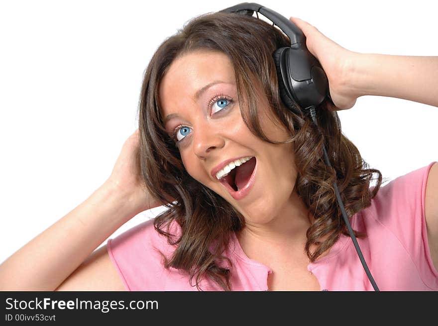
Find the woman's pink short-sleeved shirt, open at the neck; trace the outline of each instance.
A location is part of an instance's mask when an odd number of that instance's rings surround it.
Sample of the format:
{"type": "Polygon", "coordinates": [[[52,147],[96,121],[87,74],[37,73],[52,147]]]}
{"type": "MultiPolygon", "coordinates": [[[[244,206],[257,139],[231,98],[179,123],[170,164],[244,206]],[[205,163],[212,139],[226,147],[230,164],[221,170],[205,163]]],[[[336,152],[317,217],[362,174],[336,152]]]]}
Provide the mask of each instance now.
{"type": "MultiPolygon", "coordinates": [[[[357,238],[362,254],[381,291],[438,290],[438,272],[430,255],[425,221],[426,184],[432,162],[392,180],[380,188],[371,206],[355,214],[353,229],[366,231],[357,238]]],[[[180,232],[174,223],[174,231],[180,232]]],[[[189,277],[177,269],[166,270],[159,249],[168,255],[167,244],[153,227],[153,219],[142,222],[107,242],[108,253],[128,291],[197,291],[189,277]]],[[[234,291],[266,291],[269,266],[243,252],[234,233],[225,255],[234,272],[234,291]]],[[[353,242],[341,235],[329,254],[308,265],[321,290],[373,291],[353,242]]],[[[218,291],[212,281],[200,283],[203,290],[218,291]]]]}

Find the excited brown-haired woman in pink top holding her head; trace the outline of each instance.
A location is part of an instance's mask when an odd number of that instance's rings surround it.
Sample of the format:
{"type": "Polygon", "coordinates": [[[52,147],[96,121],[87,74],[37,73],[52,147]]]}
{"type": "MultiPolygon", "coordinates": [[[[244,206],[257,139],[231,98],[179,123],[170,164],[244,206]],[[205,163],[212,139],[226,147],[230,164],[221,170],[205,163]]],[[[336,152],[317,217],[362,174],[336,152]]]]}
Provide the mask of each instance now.
{"type": "Polygon", "coordinates": [[[255,17],[194,19],[153,56],[139,130],[107,182],[3,262],[1,289],[372,290],[340,218],[337,180],[380,289],[437,290],[437,164],[380,189],[380,172],[366,168],[335,112],[363,95],[438,106],[437,58],[354,53],[291,20],[329,79],[319,129],[279,98],[272,52],[288,45],[283,34],[255,17]],[[408,65],[416,69],[400,68],[408,65]],[[426,86],[409,83],[419,76],[426,86]],[[88,256],[164,204],[167,212],[88,256]],[[58,242],[65,250],[50,250],[58,242]],[[35,252],[48,255],[43,266],[32,264],[42,258],[35,252]],[[23,261],[41,268],[30,277],[23,261]]]}

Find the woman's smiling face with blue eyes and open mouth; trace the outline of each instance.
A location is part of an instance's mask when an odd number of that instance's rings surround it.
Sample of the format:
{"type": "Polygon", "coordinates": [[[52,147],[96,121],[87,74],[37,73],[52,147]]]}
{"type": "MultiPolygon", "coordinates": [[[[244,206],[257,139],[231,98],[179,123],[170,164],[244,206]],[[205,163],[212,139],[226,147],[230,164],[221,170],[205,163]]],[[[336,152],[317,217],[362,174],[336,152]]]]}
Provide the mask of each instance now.
{"type": "MultiPolygon", "coordinates": [[[[297,177],[293,145],[265,142],[245,125],[234,69],[225,54],[199,50],[176,59],[161,81],[159,98],[166,130],[170,136],[176,131],[183,164],[194,179],[219,194],[248,222],[266,223],[281,214],[297,177]],[[223,161],[250,156],[256,159],[255,174],[243,197],[212,175],[223,161]]],[[[258,114],[263,131],[270,139],[285,140],[289,134],[271,121],[267,99],[261,98],[258,114]]]]}

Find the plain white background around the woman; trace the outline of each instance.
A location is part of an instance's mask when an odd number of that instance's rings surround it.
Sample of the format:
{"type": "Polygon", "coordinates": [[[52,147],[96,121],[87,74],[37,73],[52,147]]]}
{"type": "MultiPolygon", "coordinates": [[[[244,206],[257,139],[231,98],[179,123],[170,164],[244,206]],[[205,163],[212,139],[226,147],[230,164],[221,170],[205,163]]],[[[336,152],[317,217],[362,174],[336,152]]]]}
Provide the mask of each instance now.
{"type": "MultiPolygon", "coordinates": [[[[240,2],[0,2],[0,262],[109,177],[137,128],[142,76],[158,45],[190,18],[240,2]]],[[[434,1],[258,3],[352,51],[438,55],[434,1]]],[[[365,96],[338,114],[343,133],[389,180],[438,160],[436,107],[365,96]]]]}

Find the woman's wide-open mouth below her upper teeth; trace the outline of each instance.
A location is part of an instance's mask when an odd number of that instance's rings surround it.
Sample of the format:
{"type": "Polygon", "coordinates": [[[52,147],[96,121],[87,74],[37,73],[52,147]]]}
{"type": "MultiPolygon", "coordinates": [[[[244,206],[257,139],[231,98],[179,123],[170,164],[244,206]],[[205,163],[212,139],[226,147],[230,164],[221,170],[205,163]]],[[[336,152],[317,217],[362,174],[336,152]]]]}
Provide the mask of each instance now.
{"type": "Polygon", "coordinates": [[[256,162],[256,158],[252,157],[219,180],[233,198],[240,199],[249,191],[254,181],[256,162]]]}

